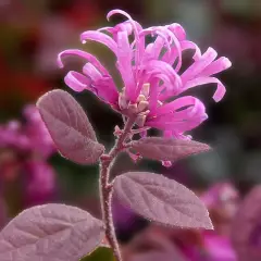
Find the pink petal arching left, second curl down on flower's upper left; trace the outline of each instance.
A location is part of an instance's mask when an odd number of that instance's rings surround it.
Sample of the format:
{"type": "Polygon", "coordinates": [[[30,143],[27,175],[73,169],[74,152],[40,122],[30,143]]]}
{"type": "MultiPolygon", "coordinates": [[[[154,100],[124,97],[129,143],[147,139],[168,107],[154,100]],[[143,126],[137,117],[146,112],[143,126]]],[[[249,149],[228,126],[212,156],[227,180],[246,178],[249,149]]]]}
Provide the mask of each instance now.
{"type": "Polygon", "coordinates": [[[87,40],[100,42],[116,53],[116,42],[110,36],[101,32],[86,30],[80,35],[80,40],[83,44],[85,44],[87,40]]]}

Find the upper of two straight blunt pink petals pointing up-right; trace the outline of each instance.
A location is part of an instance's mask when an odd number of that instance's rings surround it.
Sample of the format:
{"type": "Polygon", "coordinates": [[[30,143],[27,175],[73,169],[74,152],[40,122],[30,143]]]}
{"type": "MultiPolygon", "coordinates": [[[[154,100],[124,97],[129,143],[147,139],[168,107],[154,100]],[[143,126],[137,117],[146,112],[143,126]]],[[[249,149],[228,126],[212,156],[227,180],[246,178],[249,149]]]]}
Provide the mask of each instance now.
{"type": "Polygon", "coordinates": [[[182,80],[186,83],[189,79],[195,78],[214,61],[216,55],[216,51],[213,48],[209,48],[198,61],[196,61],[182,74],[182,80]]]}

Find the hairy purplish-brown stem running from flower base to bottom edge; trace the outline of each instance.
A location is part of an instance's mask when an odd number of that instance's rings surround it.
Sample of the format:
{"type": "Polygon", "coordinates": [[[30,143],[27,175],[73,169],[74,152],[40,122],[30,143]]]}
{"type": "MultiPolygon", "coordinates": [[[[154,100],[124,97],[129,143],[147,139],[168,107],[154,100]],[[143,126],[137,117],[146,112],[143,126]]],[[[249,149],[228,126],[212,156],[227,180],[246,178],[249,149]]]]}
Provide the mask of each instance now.
{"type": "Polygon", "coordinates": [[[112,184],[110,183],[110,170],[114,163],[117,154],[124,149],[124,141],[129,135],[135,119],[128,119],[125,123],[124,129],[117,138],[114,147],[109,154],[103,154],[100,162],[100,196],[101,196],[101,210],[103,222],[105,225],[107,239],[113,249],[113,253],[117,261],[122,261],[121,251],[115,236],[115,229],[112,220],[112,184]]]}

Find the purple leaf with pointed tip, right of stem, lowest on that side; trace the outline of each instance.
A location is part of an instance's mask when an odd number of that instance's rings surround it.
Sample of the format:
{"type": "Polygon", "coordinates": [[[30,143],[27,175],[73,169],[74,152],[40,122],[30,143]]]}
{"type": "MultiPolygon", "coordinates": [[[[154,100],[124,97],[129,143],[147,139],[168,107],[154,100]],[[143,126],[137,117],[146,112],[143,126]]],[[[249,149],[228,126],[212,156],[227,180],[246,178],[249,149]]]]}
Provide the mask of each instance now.
{"type": "Polygon", "coordinates": [[[128,172],[114,181],[123,204],[144,217],[164,225],[212,229],[207,208],[188,188],[148,172],[128,172]]]}

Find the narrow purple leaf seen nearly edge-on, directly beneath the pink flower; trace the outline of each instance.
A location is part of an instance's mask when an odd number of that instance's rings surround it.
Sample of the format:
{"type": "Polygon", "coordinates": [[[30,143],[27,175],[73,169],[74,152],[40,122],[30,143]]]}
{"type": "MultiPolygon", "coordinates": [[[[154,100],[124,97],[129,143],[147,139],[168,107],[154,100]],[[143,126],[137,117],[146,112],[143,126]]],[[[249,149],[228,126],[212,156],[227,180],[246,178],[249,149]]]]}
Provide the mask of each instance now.
{"type": "Polygon", "coordinates": [[[161,137],[141,138],[134,141],[132,148],[145,158],[162,161],[177,161],[210,150],[208,145],[195,140],[161,137]]]}

